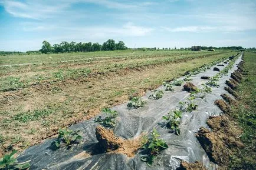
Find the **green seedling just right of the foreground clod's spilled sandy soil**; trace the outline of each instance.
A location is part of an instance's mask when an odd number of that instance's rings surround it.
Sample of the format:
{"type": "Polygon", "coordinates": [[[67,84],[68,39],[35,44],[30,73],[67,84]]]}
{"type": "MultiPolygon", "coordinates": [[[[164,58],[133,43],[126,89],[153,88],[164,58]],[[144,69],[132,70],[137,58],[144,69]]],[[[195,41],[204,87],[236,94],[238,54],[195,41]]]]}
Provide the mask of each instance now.
{"type": "Polygon", "coordinates": [[[153,161],[156,159],[156,156],[160,154],[160,151],[168,149],[166,142],[163,139],[159,139],[160,135],[155,128],[150,135],[150,138],[145,138],[142,145],[142,149],[145,149],[147,155],[140,158],[142,161],[147,162],[148,166],[153,165],[153,161]]]}

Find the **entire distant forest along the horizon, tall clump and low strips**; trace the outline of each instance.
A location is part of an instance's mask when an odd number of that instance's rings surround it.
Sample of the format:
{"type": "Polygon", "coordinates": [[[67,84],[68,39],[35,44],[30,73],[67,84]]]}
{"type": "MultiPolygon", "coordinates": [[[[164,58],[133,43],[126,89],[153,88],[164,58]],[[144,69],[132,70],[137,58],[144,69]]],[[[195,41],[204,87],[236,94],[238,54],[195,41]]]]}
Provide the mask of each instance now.
{"type": "MultiPolygon", "coordinates": [[[[66,52],[92,52],[92,51],[114,51],[114,50],[126,50],[129,49],[125,46],[123,41],[116,43],[113,39],[109,39],[104,42],[102,45],[99,43],[91,42],[67,42],[63,41],[60,44],[51,45],[48,41],[42,42],[42,47],[38,51],[27,51],[27,52],[18,52],[18,51],[0,51],[0,55],[24,55],[24,54],[52,54],[52,53],[66,53],[66,52]]],[[[255,50],[255,48],[242,48],[242,46],[227,46],[227,47],[215,47],[215,46],[201,46],[202,50],[208,49],[229,49],[229,50],[255,50]]],[[[162,51],[162,50],[187,50],[191,51],[189,48],[134,48],[133,50],[141,51],[162,51]]]]}

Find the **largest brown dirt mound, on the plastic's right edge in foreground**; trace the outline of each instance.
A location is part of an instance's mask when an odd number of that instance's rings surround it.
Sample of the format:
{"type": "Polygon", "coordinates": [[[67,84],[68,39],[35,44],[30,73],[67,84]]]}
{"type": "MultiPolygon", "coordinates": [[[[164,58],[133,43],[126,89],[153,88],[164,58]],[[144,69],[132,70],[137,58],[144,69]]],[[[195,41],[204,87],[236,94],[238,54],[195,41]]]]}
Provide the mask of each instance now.
{"type": "Polygon", "coordinates": [[[196,138],[212,162],[228,166],[234,149],[244,147],[238,138],[242,131],[224,115],[210,116],[207,124],[212,131],[201,127],[196,138]]]}

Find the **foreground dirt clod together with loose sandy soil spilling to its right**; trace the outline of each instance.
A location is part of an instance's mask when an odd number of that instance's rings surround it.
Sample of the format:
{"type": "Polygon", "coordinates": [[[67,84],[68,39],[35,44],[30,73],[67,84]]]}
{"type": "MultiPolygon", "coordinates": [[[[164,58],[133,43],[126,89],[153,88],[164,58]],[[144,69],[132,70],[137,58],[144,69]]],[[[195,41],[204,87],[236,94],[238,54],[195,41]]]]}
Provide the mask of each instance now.
{"type": "Polygon", "coordinates": [[[102,126],[96,127],[96,138],[99,141],[97,147],[100,148],[101,152],[113,151],[119,154],[126,154],[129,157],[133,157],[140,146],[142,146],[142,136],[131,140],[125,140],[114,136],[112,130],[105,129],[102,126]]]}

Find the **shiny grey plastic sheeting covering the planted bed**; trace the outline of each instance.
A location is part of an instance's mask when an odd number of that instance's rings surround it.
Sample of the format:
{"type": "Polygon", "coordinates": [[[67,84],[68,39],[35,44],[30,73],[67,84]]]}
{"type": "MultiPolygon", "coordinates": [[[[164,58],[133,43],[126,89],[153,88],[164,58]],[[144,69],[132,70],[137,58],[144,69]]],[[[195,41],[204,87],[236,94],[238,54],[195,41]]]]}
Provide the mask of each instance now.
{"type": "MultiPolygon", "coordinates": [[[[235,62],[241,61],[241,55],[235,62]]],[[[227,64],[224,64],[227,66],[227,64]]],[[[225,66],[217,66],[219,69],[225,66]]],[[[205,84],[208,80],[201,79],[201,76],[214,76],[218,72],[213,71],[214,66],[206,72],[192,76],[192,83],[198,87],[205,84]]],[[[201,161],[208,169],[216,169],[217,165],[209,162],[204,149],[195,137],[195,133],[201,126],[207,127],[206,120],[211,115],[220,115],[222,111],[214,105],[216,99],[221,98],[221,94],[225,93],[225,80],[229,79],[231,72],[234,72],[237,66],[234,65],[229,70],[228,75],[219,79],[218,88],[212,88],[211,94],[206,94],[204,99],[195,100],[198,104],[196,111],[191,113],[183,112],[180,124],[180,135],[170,133],[169,129],[163,127],[162,116],[169,111],[178,108],[179,102],[188,98],[189,93],[182,91],[182,86],[174,86],[174,91],[164,91],[165,87],[160,86],[164,95],[158,100],[148,99],[152,91],[147,92],[143,99],[147,104],[142,108],[128,109],[127,103],[114,106],[113,110],[119,113],[117,125],[113,129],[116,136],[124,139],[130,139],[142,134],[142,132],[150,132],[156,128],[162,139],[165,139],[169,149],[163,150],[157,156],[155,165],[149,167],[145,162],[140,161],[140,151],[133,157],[128,158],[124,154],[104,153],[90,155],[88,157],[74,156],[81,152],[88,151],[90,146],[97,143],[95,129],[97,124],[93,119],[72,125],[70,129],[80,130],[83,136],[83,142],[74,145],[71,149],[60,148],[57,151],[50,149],[51,142],[54,139],[47,139],[42,144],[31,146],[21,155],[18,156],[19,161],[28,161],[31,159],[31,169],[176,169],[180,160],[188,162],[201,161]]],[[[183,79],[183,78],[180,78],[183,79]]]]}

